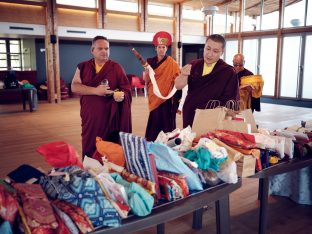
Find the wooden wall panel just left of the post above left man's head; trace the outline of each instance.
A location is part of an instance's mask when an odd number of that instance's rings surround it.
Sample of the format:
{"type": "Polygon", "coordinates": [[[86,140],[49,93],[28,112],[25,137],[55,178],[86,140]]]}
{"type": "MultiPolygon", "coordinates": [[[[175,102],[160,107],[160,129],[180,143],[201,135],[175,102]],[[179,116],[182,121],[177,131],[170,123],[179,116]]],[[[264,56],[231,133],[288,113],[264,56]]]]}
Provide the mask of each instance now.
{"type": "Polygon", "coordinates": [[[57,9],[58,26],[97,28],[97,12],[57,9]]]}

